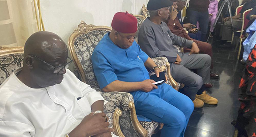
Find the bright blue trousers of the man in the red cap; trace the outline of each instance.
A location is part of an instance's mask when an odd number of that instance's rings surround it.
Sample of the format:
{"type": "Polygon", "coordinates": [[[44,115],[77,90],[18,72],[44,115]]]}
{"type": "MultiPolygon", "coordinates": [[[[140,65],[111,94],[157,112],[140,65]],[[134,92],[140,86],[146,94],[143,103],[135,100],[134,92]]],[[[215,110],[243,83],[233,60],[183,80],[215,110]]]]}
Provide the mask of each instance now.
{"type": "Polygon", "coordinates": [[[134,96],[137,115],[163,123],[161,137],[184,137],[194,104],[184,94],[167,84],[150,92],[136,91],[134,96]]]}

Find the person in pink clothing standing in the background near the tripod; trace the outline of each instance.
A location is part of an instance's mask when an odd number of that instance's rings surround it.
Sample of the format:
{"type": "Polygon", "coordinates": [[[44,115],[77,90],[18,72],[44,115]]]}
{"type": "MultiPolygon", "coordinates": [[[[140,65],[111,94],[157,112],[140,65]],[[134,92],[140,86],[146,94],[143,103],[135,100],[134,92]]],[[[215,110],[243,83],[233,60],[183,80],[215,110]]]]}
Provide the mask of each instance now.
{"type": "MultiPolygon", "coordinates": [[[[208,12],[209,12],[209,20],[211,22],[210,31],[213,32],[213,29],[214,29],[213,24],[215,22],[215,19],[217,17],[217,13],[218,13],[218,1],[217,0],[210,0],[208,12]]],[[[211,33],[211,37],[213,37],[212,33],[211,33]]]]}

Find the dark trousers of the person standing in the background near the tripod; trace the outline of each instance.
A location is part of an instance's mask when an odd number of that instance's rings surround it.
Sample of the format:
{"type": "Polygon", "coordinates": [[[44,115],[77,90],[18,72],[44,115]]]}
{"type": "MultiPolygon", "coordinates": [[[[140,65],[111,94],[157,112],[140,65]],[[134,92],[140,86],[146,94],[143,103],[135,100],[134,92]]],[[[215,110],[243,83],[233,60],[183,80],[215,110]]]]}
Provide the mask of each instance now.
{"type": "Polygon", "coordinates": [[[199,23],[200,31],[202,32],[201,40],[206,41],[206,34],[208,31],[208,23],[209,23],[209,13],[208,11],[201,13],[198,11],[193,11],[187,8],[186,16],[188,18],[189,23],[197,25],[199,23]]]}

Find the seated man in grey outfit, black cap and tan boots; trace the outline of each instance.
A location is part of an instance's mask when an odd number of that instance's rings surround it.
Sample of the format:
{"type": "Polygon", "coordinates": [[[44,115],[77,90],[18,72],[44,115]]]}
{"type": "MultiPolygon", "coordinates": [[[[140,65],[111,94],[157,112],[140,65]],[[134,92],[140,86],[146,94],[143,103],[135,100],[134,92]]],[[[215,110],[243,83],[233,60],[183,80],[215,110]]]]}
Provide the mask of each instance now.
{"type": "Polygon", "coordinates": [[[182,89],[183,94],[193,101],[195,107],[202,107],[204,103],[215,105],[218,100],[206,94],[204,86],[202,87],[203,84],[211,85],[211,57],[207,54],[198,54],[199,49],[195,42],[174,35],[170,31],[163,22],[169,16],[169,5],[173,5],[173,2],[149,0],[147,9],[150,18],[141,24],[138,34],[139,45],[151,58],[166,57],[168,59],[171,63],[173,78],[185,84],[182,89]],[[178,52],[173,44],[191,48],[191,51],[189,53],[178,52]],[[197,74],[189,69],[195,69],[197,74]]]}

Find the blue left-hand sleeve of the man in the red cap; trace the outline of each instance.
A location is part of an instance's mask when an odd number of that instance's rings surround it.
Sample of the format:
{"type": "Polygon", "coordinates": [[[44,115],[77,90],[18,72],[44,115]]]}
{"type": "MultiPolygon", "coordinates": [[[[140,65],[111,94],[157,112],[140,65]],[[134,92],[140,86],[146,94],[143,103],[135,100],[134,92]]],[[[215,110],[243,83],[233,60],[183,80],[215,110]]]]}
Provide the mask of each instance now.
{"type": "Polygon", "coordinates": [[[117,75],[114,73],[114,68],[100,51],[93,52],[91,60],[100,89],[118,80],[117,75]]]}

